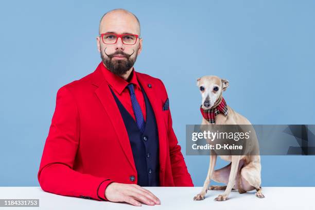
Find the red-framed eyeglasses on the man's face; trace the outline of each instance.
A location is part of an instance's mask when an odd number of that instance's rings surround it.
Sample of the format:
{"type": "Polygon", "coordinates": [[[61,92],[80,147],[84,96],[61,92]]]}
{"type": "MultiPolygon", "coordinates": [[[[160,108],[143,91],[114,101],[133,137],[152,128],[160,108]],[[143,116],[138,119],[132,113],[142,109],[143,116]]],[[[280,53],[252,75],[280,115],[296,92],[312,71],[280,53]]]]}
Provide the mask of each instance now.
{"type": "Polygon", "coordinates": [[[127,45],[134,45],[138,39],[138,35],[132,33],[102,33],[100,34],[100,37],[102,38],[104,44],[116,44],[118,38],[120,37],[122,43],[127,45]]]}

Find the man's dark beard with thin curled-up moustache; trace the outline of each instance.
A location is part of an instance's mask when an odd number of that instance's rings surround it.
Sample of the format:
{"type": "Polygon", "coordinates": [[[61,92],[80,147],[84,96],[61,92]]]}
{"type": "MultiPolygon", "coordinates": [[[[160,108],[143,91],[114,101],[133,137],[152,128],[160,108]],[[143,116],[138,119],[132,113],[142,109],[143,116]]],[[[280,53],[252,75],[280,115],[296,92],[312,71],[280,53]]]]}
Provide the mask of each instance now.
{"type": "Polygon", "coordinates": [[[123,51],[116,51],[115,53],[108,55],[105,50],[106,48],[104,49],[104,54],[106,54],[107,57],[104,57],[104,55],[101,53],[101,59],[109,71],[118,76],[124,75],[133,66],[137,59],[137,52],[135,57],[131,58],[135,51],[133,51],[131,55],[126,54],[123,51]],[[126,59],[113,61],[113,57],[117,54],[125,56],[126,59]]]}

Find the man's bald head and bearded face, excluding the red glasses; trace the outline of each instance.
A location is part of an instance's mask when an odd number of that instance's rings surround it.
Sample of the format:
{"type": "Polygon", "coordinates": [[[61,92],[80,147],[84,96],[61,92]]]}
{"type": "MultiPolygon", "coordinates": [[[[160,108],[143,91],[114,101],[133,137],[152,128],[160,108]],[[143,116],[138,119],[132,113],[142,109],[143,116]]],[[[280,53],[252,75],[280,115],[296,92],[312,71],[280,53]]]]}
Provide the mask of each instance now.
{"type": "MultiPolygon", "coordinates": [[[[139,25],[132,14],[114,11],[103,17],[99,33],[132,33],[139,35],[139,25]]],[[[115,44],[105,44],[97,37],[98,50],[104,65],[114,74],[124,75],[134,65],[142,50],[142,39],[137,39],[134,45],[126,45],[118,38],[115,44]]]]}

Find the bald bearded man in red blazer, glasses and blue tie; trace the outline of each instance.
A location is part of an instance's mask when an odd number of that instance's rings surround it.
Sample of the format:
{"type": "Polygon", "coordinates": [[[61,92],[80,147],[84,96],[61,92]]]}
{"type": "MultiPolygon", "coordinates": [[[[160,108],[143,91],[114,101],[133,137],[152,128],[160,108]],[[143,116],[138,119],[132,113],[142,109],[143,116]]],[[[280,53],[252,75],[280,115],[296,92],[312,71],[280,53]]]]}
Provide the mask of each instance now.
{"type": "Polygon", "coordinates": [[[160,204],[141,186],[194,186],[172,129],[160,79],[135,72],[140,24],[106,13],[96,70],[58,90],[38,180],[43,190],[133,205],[160,204]]]}

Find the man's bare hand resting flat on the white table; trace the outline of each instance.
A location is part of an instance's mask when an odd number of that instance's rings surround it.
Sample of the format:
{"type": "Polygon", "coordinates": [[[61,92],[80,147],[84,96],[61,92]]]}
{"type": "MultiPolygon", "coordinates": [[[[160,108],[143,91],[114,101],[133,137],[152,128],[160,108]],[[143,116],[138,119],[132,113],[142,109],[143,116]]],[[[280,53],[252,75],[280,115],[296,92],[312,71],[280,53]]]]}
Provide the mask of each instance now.
{"type": "Polygon", "coordinates": [[[147,205],[161,204],[159,198],[149,190],[136,184],[113,182],[107,186],[105,197],[112,202],[127,202],[135,206],[141,206],[141,202],[147,205]]]}

